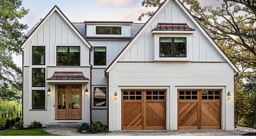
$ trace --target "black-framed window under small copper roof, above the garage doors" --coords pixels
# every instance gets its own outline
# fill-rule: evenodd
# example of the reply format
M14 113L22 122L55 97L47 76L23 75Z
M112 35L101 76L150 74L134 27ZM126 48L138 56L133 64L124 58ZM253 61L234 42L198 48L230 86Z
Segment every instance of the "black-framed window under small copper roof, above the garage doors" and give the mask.
M187 57L186 38L160 37L160 57Z

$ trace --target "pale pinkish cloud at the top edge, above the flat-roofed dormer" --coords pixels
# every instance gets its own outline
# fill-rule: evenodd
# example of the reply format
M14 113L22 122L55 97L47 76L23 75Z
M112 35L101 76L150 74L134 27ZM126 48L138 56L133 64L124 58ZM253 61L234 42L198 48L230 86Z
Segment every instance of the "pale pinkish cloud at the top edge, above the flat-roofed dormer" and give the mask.
M100 6L110 6L113 8L124 8L124 7L132 7L141 3L138 0L97 0L97 3Z

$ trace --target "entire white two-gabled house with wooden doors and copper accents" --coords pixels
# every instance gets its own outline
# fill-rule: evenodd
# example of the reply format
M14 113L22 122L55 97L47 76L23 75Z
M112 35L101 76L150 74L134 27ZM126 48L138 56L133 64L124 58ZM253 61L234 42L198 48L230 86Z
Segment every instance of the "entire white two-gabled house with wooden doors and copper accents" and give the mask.
M179 0L145 24L71 23L54 6L21 49L25 125L234 129L238 68Z

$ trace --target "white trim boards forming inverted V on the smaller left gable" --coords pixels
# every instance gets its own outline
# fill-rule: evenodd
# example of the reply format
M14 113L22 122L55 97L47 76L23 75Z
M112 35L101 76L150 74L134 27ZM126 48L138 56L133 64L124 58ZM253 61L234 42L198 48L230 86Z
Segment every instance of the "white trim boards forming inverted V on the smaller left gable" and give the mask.
M81 36L81 34L74 28L73 25L70 24L70 22L68 21L67 18L64 17L64 15L61 13L60 10L58 10L58 8L55 6L54 9L51 10L51 12L49 13L49 15L47 17L44 18L44 20L42 21L42 23L40 23L39 26L36 27L36 30L33 31L32 34L30 34L29 38L27 38L27 40L25 40L25 43L22 44L21 48L24 48L25 45L27 45L27 43L29 42L29 40L31 39L31 36L34 36L35 33L40 30L40 28L43 26L43 24L50 18L50 16L54 13L57 12L64 20L65 22L69 25L69 27L71 27L71 29L73 29L73 31L77 34L77 36L82 40L82 42L89 48L91 48L91 45Z

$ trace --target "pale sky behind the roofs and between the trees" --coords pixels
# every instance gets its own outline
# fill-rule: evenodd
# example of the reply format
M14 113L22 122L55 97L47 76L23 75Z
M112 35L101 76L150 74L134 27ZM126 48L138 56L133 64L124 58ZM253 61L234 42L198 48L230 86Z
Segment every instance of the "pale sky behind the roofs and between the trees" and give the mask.
M199 0L202 6L220 5L217 0ZM145 23L147 18L141 22L137 20L142 12L149 9L142 8L142 0L23 0L22 6L29 9L20 22L29 27L24 30L27 33L40 18L44 18L54 5L69 18L71 22L84 22L84 20L106 20L106 21L133 21L134 23ZM155 9L152 9L155 10ZM22 56L13 55L14 62L22 67Z

